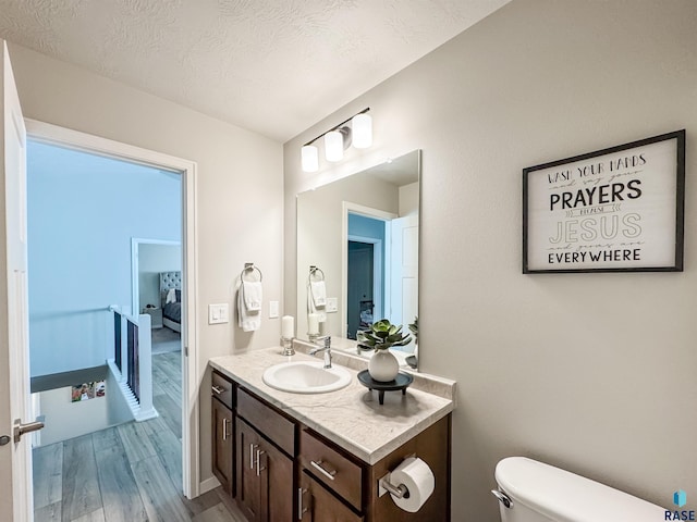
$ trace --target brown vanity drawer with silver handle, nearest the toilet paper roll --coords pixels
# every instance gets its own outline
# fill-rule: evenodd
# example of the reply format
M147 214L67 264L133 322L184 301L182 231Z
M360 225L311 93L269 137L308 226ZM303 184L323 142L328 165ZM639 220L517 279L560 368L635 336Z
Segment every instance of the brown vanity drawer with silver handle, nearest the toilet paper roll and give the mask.
M307 430L301 432L301 463L357 510L362 508L362 469Z

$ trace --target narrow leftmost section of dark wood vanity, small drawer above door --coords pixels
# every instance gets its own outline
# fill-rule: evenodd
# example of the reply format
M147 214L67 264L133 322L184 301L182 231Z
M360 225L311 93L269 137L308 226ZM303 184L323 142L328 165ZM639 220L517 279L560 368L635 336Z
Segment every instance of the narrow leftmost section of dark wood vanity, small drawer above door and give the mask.
M212 470L228 495L234 484L234 385L221 374L211 376Z

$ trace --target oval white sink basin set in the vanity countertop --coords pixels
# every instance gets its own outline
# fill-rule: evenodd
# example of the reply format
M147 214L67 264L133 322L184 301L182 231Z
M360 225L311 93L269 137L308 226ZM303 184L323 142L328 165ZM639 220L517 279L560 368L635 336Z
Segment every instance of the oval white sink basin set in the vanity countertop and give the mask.
M321 361L282 362L268 368L262 378L272 388L293 394L325 394L348 386L351 373L323 365Z

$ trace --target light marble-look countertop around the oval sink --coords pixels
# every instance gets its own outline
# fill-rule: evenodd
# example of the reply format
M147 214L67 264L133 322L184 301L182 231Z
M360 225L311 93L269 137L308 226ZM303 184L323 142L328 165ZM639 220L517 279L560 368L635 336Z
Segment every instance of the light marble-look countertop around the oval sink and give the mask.
M415 374L414 384L404 396L401 391L386 391L384 405L380 405L378 393L368 390L356 378L356 362L343 361L348 364L341 364L339 353L334 355L334 364L340 363L352 373L351 384L345 388L304 395L267 386L261 378L264 370L289 359L321 360L302 352L292 358L284 357L281 348L274 347L216 357L209 362L219 372L368 464L375 464L454 409L455 383L433 377L431 384L429 376L423 374Z

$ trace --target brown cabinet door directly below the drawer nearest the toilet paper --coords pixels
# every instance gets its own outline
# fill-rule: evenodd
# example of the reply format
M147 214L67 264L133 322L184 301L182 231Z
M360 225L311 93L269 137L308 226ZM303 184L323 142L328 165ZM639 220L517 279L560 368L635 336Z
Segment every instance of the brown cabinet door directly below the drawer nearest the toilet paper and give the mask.
M305 472L301 473L297 500L297 519L302 522L362 522L364 520Z

